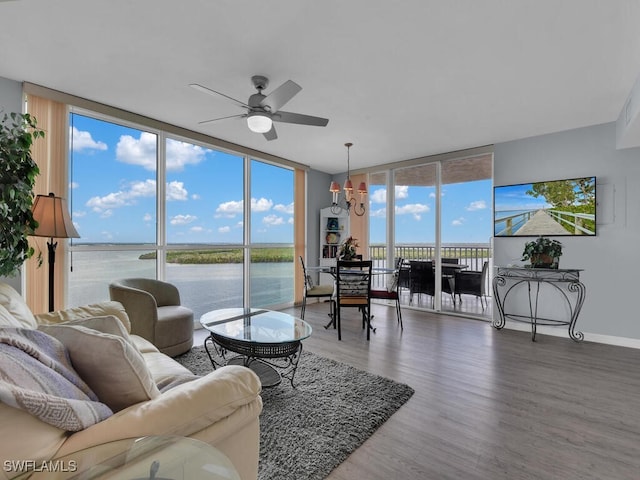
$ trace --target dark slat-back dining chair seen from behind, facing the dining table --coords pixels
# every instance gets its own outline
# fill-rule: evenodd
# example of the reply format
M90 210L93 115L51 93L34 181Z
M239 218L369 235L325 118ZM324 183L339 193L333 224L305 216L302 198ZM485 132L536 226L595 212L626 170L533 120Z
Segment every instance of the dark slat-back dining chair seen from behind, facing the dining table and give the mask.
M371 260L338 260L336 265L336 319L338 340L342 340L342 308L358 308L362 313L362 328L371 330Z

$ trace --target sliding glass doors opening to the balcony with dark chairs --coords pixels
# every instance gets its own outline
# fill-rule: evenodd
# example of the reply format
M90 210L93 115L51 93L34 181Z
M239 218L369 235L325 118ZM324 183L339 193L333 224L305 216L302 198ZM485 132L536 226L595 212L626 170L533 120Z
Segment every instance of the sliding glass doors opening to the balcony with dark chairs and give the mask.
M490 318L479 297L457 294L455 280L490 262L492 162L492 154L450 157L369 175L370 254L384 256L386 265L404 258L403 304ZM384 255L383 242L390 247ZM411 262L429 278L417 278L414 269L412 280ZM479 294L488 295L488 276L484 282Z

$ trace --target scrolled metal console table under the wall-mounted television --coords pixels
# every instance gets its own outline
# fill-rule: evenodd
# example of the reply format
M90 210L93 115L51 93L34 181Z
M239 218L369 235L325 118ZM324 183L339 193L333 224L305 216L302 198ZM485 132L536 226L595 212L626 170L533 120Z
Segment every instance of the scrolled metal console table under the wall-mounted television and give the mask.
M493 278L493 294L499 317L493 321L493 326L500 330L505 326L507 318L530 322L531 340L535 341L538 325L568 325L569 337L576 342L581 342L584 339L584 335L582 332L575 330L586 291L584 284L580 281L581 271L581 269L575 268L496 267L496 275ZM569 307L569 320L538 316L540 287L543 284L550 285L560 293ZM509 295L523 286L526 286L529 296L529 315L507 313L505 304Z

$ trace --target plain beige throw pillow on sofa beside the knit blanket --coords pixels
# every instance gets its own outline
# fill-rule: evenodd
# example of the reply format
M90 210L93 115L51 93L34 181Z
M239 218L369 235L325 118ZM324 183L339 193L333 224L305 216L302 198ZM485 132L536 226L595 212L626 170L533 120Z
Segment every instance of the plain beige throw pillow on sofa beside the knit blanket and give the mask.
M75 370L114 412L160 395L142 354L124 338L81 326L40 328L64 344Z

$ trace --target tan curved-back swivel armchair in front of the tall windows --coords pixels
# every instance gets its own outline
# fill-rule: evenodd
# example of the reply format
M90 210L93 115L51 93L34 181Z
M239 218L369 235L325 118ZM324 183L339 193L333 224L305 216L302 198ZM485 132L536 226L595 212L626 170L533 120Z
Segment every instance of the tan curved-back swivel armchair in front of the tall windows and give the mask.
M151 278L125 278L109 285L111 300L120 302L131 333L175 357L193 345L193 311L180 305L175 285Z

